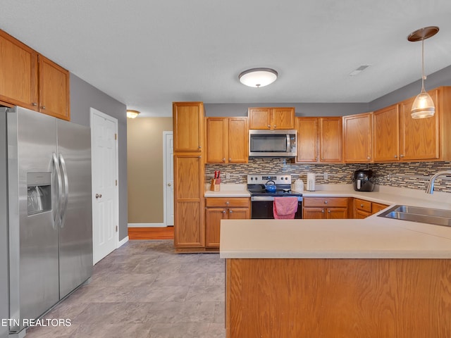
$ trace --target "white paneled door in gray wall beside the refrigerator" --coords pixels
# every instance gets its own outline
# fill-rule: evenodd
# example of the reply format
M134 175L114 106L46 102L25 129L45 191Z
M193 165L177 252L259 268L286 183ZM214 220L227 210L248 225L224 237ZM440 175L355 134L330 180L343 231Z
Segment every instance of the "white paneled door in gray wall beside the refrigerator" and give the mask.
M94 264L118 245L118 120L91 108Z

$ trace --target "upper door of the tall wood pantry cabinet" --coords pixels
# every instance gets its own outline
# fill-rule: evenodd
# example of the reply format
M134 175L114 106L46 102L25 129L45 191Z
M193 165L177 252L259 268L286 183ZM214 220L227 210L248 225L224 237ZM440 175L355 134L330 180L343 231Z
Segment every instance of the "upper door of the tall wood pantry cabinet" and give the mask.
M202 151L203 120L202 102L173 103L174 152Z

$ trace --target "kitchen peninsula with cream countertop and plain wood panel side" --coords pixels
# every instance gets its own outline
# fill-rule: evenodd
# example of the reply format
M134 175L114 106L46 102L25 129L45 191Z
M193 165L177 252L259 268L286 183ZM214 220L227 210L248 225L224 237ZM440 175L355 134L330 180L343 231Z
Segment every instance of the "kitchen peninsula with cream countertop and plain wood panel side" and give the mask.
M451 337L451 227L223 220L221 257L228 338Z

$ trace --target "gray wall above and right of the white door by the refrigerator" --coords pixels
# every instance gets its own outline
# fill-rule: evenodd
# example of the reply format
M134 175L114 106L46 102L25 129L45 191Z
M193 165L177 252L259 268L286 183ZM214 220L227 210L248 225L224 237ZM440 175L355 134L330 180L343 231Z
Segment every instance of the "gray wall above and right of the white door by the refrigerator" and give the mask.
M70 120L89 126L89 108L118 119L119 240L128 236L127 110L125 104L70 74Z

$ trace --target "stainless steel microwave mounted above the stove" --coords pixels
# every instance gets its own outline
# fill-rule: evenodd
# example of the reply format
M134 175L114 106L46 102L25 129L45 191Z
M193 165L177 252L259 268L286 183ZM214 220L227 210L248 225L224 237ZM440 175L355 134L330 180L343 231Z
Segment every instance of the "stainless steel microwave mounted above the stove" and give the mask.
M295 157L296 130L249 130L249 157Z

